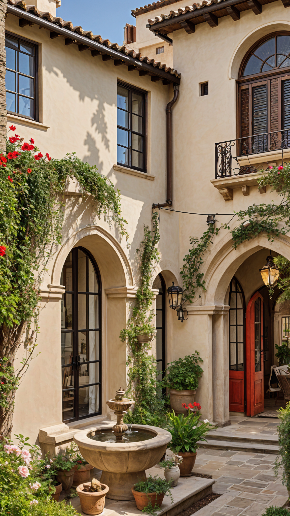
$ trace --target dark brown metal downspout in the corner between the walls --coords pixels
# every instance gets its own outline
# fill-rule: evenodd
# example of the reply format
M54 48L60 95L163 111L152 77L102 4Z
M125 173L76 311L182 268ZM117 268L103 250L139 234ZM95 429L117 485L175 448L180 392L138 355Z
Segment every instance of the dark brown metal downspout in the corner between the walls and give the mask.
M162 204L152 204L152 208L162 208L172 206L172 106L175 104L179 95L179 85L173 84L174 95L171 102L166 106L166 157L167 157L167 198Z

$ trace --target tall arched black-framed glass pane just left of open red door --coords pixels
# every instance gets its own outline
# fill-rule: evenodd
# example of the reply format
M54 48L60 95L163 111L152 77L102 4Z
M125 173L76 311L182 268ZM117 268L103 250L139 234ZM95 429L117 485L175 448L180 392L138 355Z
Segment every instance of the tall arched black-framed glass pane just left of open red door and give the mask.
M243 371L245 361L245 296L235 277L230 283L229 305L230 370Z

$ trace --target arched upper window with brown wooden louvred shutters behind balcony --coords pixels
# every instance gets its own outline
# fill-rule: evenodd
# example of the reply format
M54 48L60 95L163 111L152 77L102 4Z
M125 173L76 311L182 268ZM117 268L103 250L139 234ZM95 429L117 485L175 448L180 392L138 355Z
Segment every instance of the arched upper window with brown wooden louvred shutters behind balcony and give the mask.
M239 154L290 147L290 32L256 42L237 83Z

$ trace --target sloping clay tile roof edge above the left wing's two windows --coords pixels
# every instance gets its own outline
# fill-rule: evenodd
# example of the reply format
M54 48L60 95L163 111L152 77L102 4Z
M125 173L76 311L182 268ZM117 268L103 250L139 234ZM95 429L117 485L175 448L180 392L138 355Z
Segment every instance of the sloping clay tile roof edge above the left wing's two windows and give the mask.
M108 39L102 39L101 36L95 36L90 30L83 30L83 28L79 25L74 27L72 22L65 22L62 20L62 18L55 18L50 12L39 11L35 5L26 5L24 0L8 0L8 5L32 12L38 18L45 18L55 25L71 30L72 33L77 33L80 36L84 36L92 41L96 41L97 43L106 46L108 49L115 50L124 55L130 55L134 57L134 59L147 62L148 65L159 68L159 70L163 69L165 72L169 72L171 75L175 75L179 78L181 77L181 74L179 74L178 71L174 70L173 68L167 67L160 62L155 62L154 59L149 59L148 57L142 56L139 53L137 54L134 52L134 50L127 49L125 46L119 46L118 43L111 43Z

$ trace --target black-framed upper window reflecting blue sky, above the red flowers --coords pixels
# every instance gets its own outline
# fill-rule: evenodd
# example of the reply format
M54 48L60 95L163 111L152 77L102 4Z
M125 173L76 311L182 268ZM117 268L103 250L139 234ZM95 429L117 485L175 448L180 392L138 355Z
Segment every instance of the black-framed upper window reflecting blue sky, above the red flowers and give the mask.
M7 112L38 119L38 45L5 34Z

